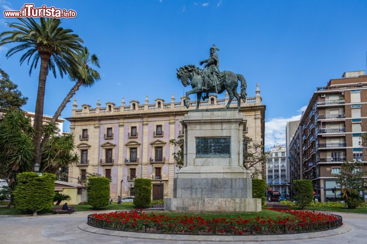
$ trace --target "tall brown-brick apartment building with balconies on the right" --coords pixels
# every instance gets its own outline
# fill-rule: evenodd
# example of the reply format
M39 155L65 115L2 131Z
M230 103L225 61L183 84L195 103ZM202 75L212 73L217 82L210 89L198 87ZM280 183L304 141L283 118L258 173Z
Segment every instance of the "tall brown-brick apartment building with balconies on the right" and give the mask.
M318 87L291 141L291 179L312 179L313 190L321 201L338 200L340 186L335 179L340 165L344 161L367 161L366 148L360 144L361 134L366 131L364 71L345 72L342 78Z

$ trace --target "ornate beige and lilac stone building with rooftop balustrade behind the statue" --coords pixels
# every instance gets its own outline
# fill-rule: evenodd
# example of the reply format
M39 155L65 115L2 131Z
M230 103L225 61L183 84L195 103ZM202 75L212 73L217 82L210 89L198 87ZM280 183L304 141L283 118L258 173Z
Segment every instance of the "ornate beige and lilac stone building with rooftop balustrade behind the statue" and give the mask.
M225 99L209 96L200 102L200 109L224 108ZM173 196L173 178L177 167L173 153L177 151L170 139L182 134L180 118L189 110L195 109L196 102L190 102L187 109L183 106L184 97L166 103L155 99L144 104L132 100L128 105L124 99L121 106L107 102L101 107L92 108L88 104L78 109L74 100L70 131L75 135L75 150L80 162L69 167L69 182L86 180L86 174L99 173L110 178L111 197L134 194L134 178L152 180L153 199ZM231 107L237 107L232 101ZM265 105L261 104L260 90L257 85L256 96L241 102L240 113L247 123L244 136L264 144ZM260 166L264 167L264 165Z

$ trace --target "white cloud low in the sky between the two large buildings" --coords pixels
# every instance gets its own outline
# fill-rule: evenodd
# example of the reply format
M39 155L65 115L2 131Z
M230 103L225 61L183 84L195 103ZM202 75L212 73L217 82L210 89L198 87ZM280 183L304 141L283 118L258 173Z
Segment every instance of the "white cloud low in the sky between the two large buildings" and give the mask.
M305 106L300 108L298 112L304 111ZM283 118L271 118L265 122L265 148L272 147L276 144L285 145L285 126L289 121L300 120L301 114Z

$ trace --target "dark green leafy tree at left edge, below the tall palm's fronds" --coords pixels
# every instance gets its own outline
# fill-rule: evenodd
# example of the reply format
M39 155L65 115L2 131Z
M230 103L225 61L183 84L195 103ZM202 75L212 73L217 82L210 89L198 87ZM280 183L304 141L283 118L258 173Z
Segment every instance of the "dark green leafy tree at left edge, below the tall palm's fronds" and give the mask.
M17 88L18 85L10 80L3 69L0 69L0 113L6 113L9 109L19 109L27 103L28 98L23 97Z

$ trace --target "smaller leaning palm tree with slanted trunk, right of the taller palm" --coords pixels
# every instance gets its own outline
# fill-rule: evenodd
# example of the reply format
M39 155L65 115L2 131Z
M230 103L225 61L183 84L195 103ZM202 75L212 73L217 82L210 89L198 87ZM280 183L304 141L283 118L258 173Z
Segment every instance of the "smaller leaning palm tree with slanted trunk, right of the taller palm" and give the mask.
M99 73L90 67L90 65L94 65L99 68L99 59L95 54L90 55L87 47L84 47L83 50L78 51L76 56L76 63L78 67L76 70L73 70L70 75L72 80L76 80L76 83L70 89L70 92L66 95L63 102L56 110L53 116L54 123L56 123L56 120L61 115L61 112L66 107L66 104L75 95L76 91L81 87L81 85L92 86L94 82L100 80Z

